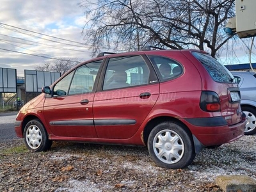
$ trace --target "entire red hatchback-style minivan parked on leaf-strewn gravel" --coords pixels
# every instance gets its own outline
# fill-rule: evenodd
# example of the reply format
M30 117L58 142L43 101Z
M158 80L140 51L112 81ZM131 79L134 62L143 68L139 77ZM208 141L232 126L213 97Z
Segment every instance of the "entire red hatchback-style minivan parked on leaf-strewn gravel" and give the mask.
M145 145L158 166L176 169L244 135L237 83L202 51L99 54L42 92L15 122L36 152L60 140Z

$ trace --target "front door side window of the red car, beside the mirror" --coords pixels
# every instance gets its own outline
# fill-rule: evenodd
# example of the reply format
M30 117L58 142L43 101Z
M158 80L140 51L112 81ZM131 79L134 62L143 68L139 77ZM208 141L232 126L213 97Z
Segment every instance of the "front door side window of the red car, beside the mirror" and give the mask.
M54 86L54 95L74 95L92 92L102 60L87 63L72 71Z

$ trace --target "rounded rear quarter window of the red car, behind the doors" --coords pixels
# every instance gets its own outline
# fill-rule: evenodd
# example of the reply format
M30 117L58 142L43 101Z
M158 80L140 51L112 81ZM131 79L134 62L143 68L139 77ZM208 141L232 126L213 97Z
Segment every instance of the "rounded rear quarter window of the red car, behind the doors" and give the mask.
M177 61L154 55L149 55L148 58L156 68L161 81L175 79L183 73L183 67Z

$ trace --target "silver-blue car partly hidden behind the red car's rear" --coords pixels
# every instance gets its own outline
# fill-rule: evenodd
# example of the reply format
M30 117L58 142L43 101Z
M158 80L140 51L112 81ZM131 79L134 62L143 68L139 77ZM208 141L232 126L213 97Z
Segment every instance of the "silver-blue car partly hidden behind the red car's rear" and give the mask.
M231 72L241 93L241 108L246 115L244 134L256 133L256 74L254 72Z

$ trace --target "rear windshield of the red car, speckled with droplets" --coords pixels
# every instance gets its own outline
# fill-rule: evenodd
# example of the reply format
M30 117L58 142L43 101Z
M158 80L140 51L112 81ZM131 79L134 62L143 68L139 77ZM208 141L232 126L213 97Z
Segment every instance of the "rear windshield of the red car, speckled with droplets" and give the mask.
M192 54L202 63L214 81L220 83L235 83L234 77L230 71L217 60L202 52L192 52Z

